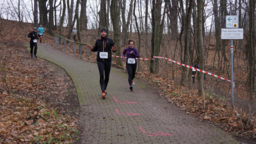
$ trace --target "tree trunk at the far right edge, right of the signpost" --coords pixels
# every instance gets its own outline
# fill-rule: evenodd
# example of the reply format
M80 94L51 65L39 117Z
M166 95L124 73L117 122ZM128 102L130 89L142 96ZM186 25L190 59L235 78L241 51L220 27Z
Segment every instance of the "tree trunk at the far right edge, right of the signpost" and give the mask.
M254 13L255 13L255 1L249 1L249 74L248 74L248 93L250 95L250 101L253 101L255 90L255 25L254 25Z

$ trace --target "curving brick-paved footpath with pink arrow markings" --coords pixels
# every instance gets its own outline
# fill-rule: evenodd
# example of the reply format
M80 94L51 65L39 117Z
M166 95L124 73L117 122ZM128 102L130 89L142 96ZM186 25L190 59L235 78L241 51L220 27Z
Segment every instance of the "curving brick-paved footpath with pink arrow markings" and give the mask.
M103 100L96 63L47 44L38 45L38 55L63 67L74 81L83 127L77 143L238 143L159 97L152 86L135 80L131 92L122 70L111 68L108 96Z

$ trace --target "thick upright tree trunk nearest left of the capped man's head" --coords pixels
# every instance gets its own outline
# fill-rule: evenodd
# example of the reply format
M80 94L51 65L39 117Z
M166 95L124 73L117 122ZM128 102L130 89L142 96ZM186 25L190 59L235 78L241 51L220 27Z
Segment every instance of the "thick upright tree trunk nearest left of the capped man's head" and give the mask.
M80 22L81 22L81 31L87 29L87 14L86 14L86 3L87 0L81 0L81 14L80 14Z

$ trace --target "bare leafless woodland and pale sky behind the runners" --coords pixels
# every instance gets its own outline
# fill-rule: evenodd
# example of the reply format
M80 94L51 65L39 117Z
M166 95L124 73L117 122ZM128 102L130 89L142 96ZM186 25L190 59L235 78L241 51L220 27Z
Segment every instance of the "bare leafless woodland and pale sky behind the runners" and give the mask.
M226 15L238 15L244 39L234 40L236 96L255 98L255 0L4 0L1 19L42 24L49 35L71 39L77 28L79 42L93 44L99 29L108 29L120 56L129 39L141 58L164 56L230 79L230 40L221 40ZM0 29L1 30L1 29ZM116 58L116 65L124 63ZM140 61L140 72L150 72L191 87L191 70L165 60ZM198 94L205 79L230 90L230 83L197 73ZM225 89L225 90L224 90Z

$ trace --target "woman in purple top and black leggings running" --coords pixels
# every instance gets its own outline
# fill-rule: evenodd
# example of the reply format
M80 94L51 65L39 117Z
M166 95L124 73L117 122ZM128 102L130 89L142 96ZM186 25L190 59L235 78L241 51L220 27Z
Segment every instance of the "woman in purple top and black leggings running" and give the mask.
M136 74L136 68L137 68L137 60L136 58L140 58L140 54L137 51L137 49L134 47L134 41L133 40L129 40L128 42L129 47L127 47L126 49L124 49L123 53L122 53L122 58L124 60L124 56L126 54L127 58L126 58L126 70L128 73L128 82L129 82L129 89L132 91L132 85L134 85L133 79L135 77Z

